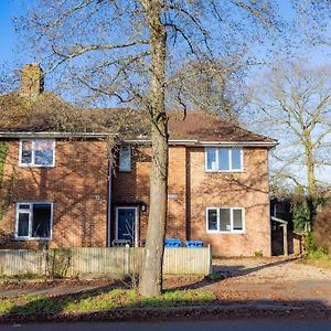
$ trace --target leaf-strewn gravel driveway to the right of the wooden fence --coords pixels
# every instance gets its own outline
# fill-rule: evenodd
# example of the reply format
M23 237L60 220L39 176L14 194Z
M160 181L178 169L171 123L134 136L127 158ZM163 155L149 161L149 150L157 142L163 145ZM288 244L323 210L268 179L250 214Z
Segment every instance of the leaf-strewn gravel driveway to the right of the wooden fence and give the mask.
M331 307L331 269L297 258L226 258L213 260L222 278L202 286L229 300L320 301Z

